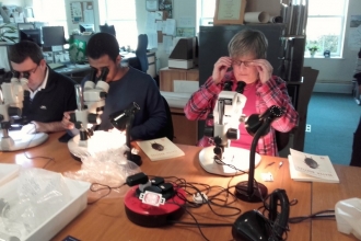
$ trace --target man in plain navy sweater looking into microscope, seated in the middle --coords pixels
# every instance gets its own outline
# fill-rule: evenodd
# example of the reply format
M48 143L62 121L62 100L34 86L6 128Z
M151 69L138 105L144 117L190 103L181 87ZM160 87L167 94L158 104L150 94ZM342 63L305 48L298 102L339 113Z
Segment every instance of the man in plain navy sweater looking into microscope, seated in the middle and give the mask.
M172 119L167 119L165 104L155 80L132 67L120 65L121 56L117 39L107 33L94 34L88 42L86 55L90 66L96 69L97 77L104 68L108 69L105 81L109 84L109 90L105 99L100 129L113 128L109 115L124 111L136 102L140 111L135 115L130 131L131 139L145 140L164 136L166 123ZM74 125L69 118L70 116L65 114L63 126L73 129Z

